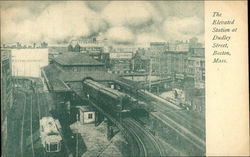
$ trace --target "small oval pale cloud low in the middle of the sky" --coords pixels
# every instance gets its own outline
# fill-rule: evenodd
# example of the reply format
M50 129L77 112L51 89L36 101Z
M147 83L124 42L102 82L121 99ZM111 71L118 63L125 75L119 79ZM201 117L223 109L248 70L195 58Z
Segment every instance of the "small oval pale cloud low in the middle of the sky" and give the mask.
M106 34L108 40L115 43L131 43L134 41L133 33L126 27L113 27Z

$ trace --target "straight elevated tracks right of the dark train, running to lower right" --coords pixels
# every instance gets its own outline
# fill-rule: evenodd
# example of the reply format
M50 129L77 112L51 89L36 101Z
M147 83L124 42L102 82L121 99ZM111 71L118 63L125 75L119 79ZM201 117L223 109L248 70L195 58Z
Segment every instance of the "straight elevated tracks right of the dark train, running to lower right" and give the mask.
M152 113L153 117L161 122L161 124L171 128L172 131L175 132L176 138L180 138L177 139L179 142L185 142L187 145L189 143L194 146L194 148L191 149L185 148L184 151L188 151L189 153L192 153L192 151L199 151L201 153L205 151L205 126L204 121L202 121L202 116L183 113L183 110L173 102L162 101L161 98L158 99L153 94L140 89L134 90L134 87L129 83L122 81L118 81L117 83L124 86L123 90L128 95L132 94L138 100L145 102L146 106L154 106L157 112L156 114ZM171 135L168 138L171 138ZM175 140L172 141L173 145L176 145ZM176 146L178 147L178 145L179 144Z

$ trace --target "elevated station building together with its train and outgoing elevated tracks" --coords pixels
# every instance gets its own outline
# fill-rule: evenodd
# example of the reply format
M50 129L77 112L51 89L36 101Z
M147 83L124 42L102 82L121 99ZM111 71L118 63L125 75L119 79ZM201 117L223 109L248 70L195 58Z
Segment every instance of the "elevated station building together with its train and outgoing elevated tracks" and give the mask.
M74 61L73 63L74 58L77 58L78 62ZM181 112L182 109L178 105L167 102L146 91L147 84L145 81L138 83L110 74L102 63L85 54L69 54L66 57L60 58L59 56L55 58L52 64L42 69L42 76L48 90L57 101L57 107L70 108L79 105L91 105L96 111L96 123L100 123L100 120L103 120L101 117L106 117L111 122L109 123L110 126L114 125L123 132L128 141L136 145L134 147L141 147L145 143L146 145L155 143L153 142L153 134L156 134L158 137L166 137L166 135L162 135L162 130L160 129L164 127L166 130L174 132L175 136L167 137L172 138L169 141L174 148L181 151L186 150L184 147L178 148L176 141L179 141L185 143L185 145L190 144L192 146L191 150L189 149L184 154L188 155L190 152L195 152L197 155L204 154L203 146L205 139L202 139L204 134L202 131L204 129L195 129L192 123L196 123L196 121L187 113ZM152 81L151 83L152 85L155 83L162 86L169 82L171 82L171 79L166 78L155 82ZM145 136L141 137L148 139L145 143L141 143L141 138L137 136L135 131L139 129L138 127L142 127L140 126L141 124L137 124L134 120L132 120L133 122L126 120L127 118L131 119L130 117L122 116L125 112L134 109L144 110L148 113L149 128L151 127L153 134L150 131L145 132ZM164 118L159 116L159 114L163 114ZM182 119L190 119L190 121L183 124L181 123ZM157 123L158 121L159 123ZM135 128L131 130L131 128L128 128L129 126ZM108 130L111 131L112 129ZM140 134L139 132L137 133ZM112 137L111 133L109 134ZM160 152L160 156L164 156L160 146L158 144L154 145L156 151L154 153L158 154ZM135 154L140 156L140 151L140 148L138 148L132 153L137 152ZM149 152L148 154L147 152L144 153L146 155L150 154Z

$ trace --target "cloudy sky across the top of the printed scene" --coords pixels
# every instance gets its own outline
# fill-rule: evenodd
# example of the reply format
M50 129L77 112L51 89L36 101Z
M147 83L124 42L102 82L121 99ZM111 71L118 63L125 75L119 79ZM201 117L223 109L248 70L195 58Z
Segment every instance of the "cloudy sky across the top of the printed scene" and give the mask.
M92 36L119 44L192 37L204 42L204 2L1 2L2 43L60 43Z

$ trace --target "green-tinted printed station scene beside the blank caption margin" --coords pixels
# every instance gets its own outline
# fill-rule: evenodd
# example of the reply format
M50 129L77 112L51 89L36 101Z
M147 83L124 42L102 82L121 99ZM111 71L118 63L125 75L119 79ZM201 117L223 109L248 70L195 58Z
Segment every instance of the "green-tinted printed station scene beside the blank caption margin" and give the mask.
M205 156L203 1L1 1L2 157Z

